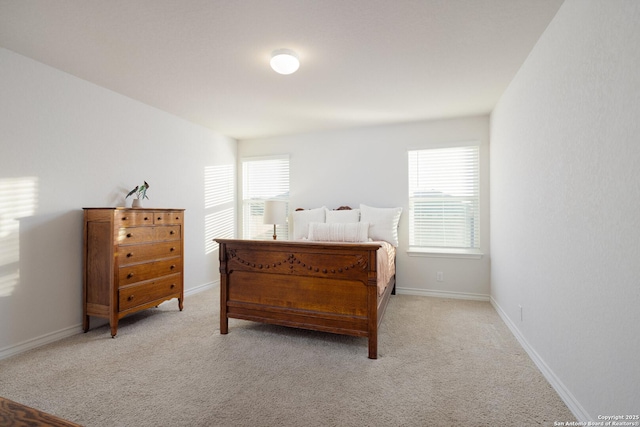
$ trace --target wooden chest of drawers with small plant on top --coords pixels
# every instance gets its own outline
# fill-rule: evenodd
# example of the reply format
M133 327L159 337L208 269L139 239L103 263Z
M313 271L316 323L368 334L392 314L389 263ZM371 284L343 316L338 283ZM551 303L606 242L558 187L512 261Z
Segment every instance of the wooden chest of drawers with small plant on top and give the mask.
M91 316L118 320L163 301L182 311L184 209L84 208L83 329Z

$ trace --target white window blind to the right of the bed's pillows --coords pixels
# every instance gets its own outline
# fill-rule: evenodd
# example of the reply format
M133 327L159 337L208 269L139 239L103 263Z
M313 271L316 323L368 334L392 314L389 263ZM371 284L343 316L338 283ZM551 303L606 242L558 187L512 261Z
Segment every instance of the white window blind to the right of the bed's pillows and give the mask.
M409 246L480 248L478 145L409 151Z

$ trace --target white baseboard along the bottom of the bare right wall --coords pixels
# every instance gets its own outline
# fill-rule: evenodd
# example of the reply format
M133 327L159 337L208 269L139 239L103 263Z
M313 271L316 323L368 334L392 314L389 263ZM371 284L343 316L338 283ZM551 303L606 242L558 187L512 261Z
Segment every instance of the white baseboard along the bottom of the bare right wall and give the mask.
M504 323L507 325L513 336L516 337L524 351L527 352L533 363L538 367L542 375L549 381L551 387L558 393L562 401L567 405L571 413L577 418L579 422L587 423L589 421L593 421L593 418L589 416L587 411L582 407L580 402L575 398L575 396L569 391L569 389L562 383L560 378L549 368L549 366L545 363L545 361L540 357L540 355L529 345L525 337L520 333L520 330L516 327L515 323L507 316L507 313L498 305L496 300L493 298L490 299L491 305L498 312L498 315L502 318ZM565 421L565 420L558 420Z

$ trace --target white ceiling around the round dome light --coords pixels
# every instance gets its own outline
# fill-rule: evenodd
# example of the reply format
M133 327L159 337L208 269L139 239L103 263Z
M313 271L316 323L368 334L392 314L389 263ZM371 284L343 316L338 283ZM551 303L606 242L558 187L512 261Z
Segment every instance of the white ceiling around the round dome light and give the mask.
M0 0L0 46L247 139L489 113L561 4Z

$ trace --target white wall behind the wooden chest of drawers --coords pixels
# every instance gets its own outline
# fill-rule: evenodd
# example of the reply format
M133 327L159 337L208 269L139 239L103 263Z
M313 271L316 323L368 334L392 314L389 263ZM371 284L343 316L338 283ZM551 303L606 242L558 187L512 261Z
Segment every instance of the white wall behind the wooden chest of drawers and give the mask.
M186 209L186 290L217 280L205 168L233 167L234 140L6 49L0 123L0 357L80 331L82 207L142 180L146 206Z

